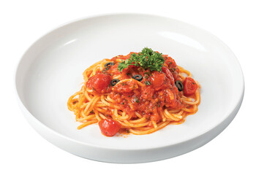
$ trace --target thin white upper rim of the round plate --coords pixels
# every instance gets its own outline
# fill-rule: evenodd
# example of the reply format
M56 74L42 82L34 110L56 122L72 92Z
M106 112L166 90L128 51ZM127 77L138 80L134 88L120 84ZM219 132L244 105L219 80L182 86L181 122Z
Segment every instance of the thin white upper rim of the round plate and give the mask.
M126 15L126 16L136 16L136 15L140 15L140 16L146 16L148 18L150 17L153 17L153 18L165 18L167 20L173 20L175 22L178 22L178 23L183 23L184 25L187 25L187 26L192 26L193 28L197 28L198 30L200 31L203 31L205 32L206 34L209 34L211 35L211 37L214 37L215 39L217 39L218 42L222 43L223 46L225 46L225 50L228 51L228 53L230 55L232 55L233 57L233 61L236 61L236 64L238 66L238 69L239 69L239 74L241 75L241 87L239 88L239 96L238 98L236 98L236 102L234 103L234 106L232 106L230 108L229 111L226 112L225 114L225 117L219 121L219 123L217 123L217 125L213 125L211 128L208 128L206 131L203 131L203 132L200 132L197 134L197 136L190 136L189 138L187 139L181 139L179 141L176 141L175 143L173 144L165 144L165 145L162 145L162 146L155 146L155 147L142 147L142 148L136 148L136 147L132 147L132 148L121 148L121 147L108 147L108 146L104 146L104 145L97 145L97 144L91 144L91 143L86 143L86 142L83 142L83 141L78 141L76 139L72 139L71 137L69 136L64 136L63 134L53 130L52 128L48 127L48 125L45 125L44 123L41 123L37 117L34 117L33 114L31 114L31 112L29 112L29 109L26 108L26 106L23 104L23 101L21 101L21 98L20 98L20 95L18 93L18 83L17 83L17 78L18 78L18 69L20 67L20 63L23 61L23 58L24 56L26 55L27 52L29 52L29 50L31 50L31 47L34 46L34 44L37 44L37 42L40 42L45 36L48 36L49 34L53 33L54 31L57 31L59 30L60 28L63 28L65 26L68 26L70 24L74 24L74 23L78 23L78 22L81 22L83 20L88 20L88 19L93 19L93 18L103 18L103 17L106 17L106 16L118 16L118 15ZM118 149L118 150L147 150L147 149L159 149L159 148L165 148L165 147L170 147L170 146L175 146L175 145L178 145L178 144L182 144L184 142L187 142L187 141L191 141L192 139L196 139L200 136L202 136L203 134L205 133L208 133L209 131L213 130L214 128L217 128L217 126L221 125L228 117L230 117L230 114L232 114L233 112L236 111L236 109L240 108L242 102L243 102L243 98L244 98L244 74L243 74L243 71L241 69L241 64L239 63L238 61L238 58L236 57L236 55L233 53L232 50L230 50L230 47L227 46L227 44L225 44L224 42L222 42L221 39L219 39L217 36L215 36L214 34L211 34L211 32L209 31L206 31L205 29L203 28L200 28L200 27L197 27L197 26L194 26L190 23L187 23L187 22L184 22L184 21L181 21L181 20L176 20L176 19L173 19L173 18L169 18L167 16L163 16L163 15L154 15L154 14L149 14L149 13L134 13L134 12L118 12L118 13L102 13L102 14L97 14L97 15L88 15L86 17L82 17L82 18L77 18L77 19L74 19L74 20L69 20L68 22L66 23L62 23L61 25L57 26L57 27L54 27L53 29L51 29L50 31L46 32L45 34L42 34L38 39L36 39L34 42L32 42L32 44L28 47L28 49L23 52L23 55L20 57L19 61L17 62L16 66L15 66L15 76L14 76L14 82L15 82L15 96L16 98L18 99L18 104L20 106L20 109L22 109L24 112L26 112L27 114L29 114L29 117L31 120L34 120L37 124L41 125L42 127L48 129L49 131L55 133L57 136L60 136L62 139L67 139L69 141L72 141L72 142L75 142L75 143L78 143L78 144L82 144L84 146L87 146L87 147L97 147L99 149ZM23 114L25 115L25 114ZM26 116L24 116L26 117ZM236 114L235 116L236 117ZM34 127L33 127L34 128Z

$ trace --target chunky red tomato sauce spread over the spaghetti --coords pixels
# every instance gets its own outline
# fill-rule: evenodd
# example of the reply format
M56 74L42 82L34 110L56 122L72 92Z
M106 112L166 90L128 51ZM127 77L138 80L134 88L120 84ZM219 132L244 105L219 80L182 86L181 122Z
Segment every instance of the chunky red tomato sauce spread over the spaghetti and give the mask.
M129 55L119 55L119 57L112 58L126 60ZM135 112L146 118L150 118L157 123L160 121L159 109L168 107L171 109L181 109L184 104L181 101L181 92L178 91L175 85L176 80L181 80L178 76L179 69L176 62L170 56L163 55L165 64L162 71L149 71L141 67L128 66L123 71L118 71L118 63L110 66L108 70L98 71L97 74L105 74L113 79L114 76L121 75L122 79L132 79L136 74L143 76L141 83L145 86L141 87L137 83L130 81L118 83L115 86L101 85L97 91L110 93L110 98L116 101L116 105L129 116L136 117ZM94 76L97 76L94 75ZM101 75L102 76L102 75ZM91 77L92 78L92 77ZM91 79L90 78L90 79ZM89 79L89 81L90 81ZM95 78L96 79L96 78ZM87 87L93 87L94 81L88 82ZM105 78L105 82L109 82L109 78ZM101 89L104 87L104 89ZM137 117L136 117L137 118Z

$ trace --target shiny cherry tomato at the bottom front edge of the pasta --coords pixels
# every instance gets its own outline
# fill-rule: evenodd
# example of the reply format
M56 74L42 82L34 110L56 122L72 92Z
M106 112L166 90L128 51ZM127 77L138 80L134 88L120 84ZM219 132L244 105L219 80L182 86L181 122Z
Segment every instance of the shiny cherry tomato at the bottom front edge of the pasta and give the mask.
M105 136L114 136L121 128L121 123L112 119L104 119L99 121L99 128Z

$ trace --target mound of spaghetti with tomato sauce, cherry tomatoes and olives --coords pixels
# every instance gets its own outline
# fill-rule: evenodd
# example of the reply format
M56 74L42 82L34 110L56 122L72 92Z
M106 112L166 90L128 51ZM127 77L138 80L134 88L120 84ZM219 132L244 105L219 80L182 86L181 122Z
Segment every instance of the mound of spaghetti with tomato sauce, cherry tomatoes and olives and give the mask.
M169 124L184 123L187 115L197 112L200 85L189 71L162 54L160 71L141 66L141 61L135 65L134 60L133 65L120 71L119 64L128 63L136 55L143 55L143 52L104 59L83 72L83 87L67 102L75 120L81 123L78 129L99 123L106 136L118 131L142 135ZM112 122L105 123L107 131L101 127L102 120Z

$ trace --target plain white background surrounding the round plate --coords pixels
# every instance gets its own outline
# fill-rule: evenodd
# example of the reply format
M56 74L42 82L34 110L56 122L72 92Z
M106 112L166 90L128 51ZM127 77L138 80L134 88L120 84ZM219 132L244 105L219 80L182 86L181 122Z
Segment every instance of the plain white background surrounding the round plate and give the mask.
M154 163L113 164L71 155L42 139L15 99L14 71L23 52L52 28L88 15L142 12L191 23L235 53L245 96L233 122L203 147ZM0 174L255 174L255 1L0 1ZM230 87L232 88L232 87Z

